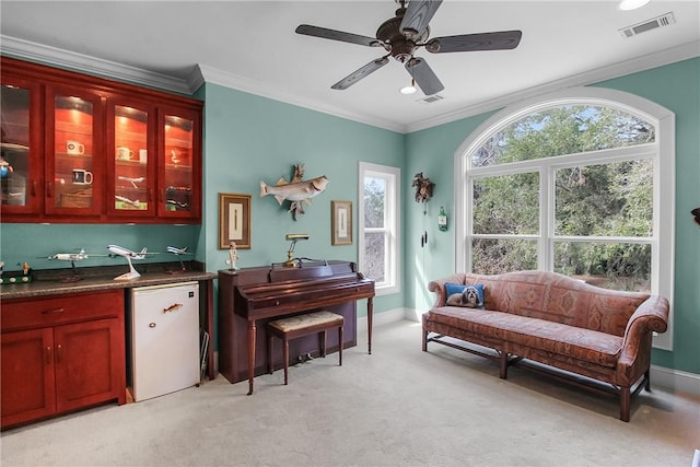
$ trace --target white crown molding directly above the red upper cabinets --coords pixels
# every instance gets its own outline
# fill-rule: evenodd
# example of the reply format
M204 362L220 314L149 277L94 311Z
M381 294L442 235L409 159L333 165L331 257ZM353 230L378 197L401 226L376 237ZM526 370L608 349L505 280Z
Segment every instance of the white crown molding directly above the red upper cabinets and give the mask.
M185 80L178 78L5 35L0 35L0 51L2 55L14 58L178 94L191 95L197 91L197 89L190 89Z

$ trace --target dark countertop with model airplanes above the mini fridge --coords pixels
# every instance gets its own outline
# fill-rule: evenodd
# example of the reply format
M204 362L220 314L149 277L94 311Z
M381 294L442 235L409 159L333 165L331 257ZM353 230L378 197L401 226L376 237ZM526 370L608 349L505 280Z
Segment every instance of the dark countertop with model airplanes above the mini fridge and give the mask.
M137 269L141 273L140 278L132 280L114 280L115 277L126 272L127 267L79 268L78 276L81 279L74 282L61 281L61 278L74 276L71 269L34 271L32 282L0 285L0 299L26 299L63 293L131 289L137 287L212 280L218 277L213 272L197 270L198 265L194 265L194 267L188 265L186 271L180 271L179 262L150 264L144 268L137 266Z

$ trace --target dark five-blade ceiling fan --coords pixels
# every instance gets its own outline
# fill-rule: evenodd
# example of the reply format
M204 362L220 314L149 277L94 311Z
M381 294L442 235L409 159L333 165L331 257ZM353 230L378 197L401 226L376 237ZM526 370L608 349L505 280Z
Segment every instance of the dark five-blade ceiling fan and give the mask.
M394 57L399 62L405 63L411 80L420 86L425 95L436 94L444 90L445 86L428 66L424 58L413 56L413 52L419 47L425 47L425 50L432 54L505 50L517 47L523 35L521 31L501 31L435 37L428 40L430 35L428 23L438 11L442 0L396 0L396 2L400 5L396 10L396 16L382 23L376 31L376 37L361 36L308 24L301 24L296 27L296 34L368 47L382 47L388 52L348 74L330 87L334 90L347 90L368 74L388 63L388 57ZM407 3L408 7L406 7Z

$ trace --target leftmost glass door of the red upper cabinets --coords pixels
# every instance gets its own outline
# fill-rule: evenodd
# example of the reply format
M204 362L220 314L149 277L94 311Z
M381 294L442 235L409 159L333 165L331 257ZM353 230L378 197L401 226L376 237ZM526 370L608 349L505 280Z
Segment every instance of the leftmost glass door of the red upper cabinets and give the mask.
M0 194L2 213L38 213L40 201L39 89L2 77Z

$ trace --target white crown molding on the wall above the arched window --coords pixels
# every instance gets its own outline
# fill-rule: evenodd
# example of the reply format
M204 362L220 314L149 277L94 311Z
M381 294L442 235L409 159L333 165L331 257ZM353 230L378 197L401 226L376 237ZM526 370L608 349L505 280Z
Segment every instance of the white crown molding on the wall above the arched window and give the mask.
M633 58L631 60L621 61L619 63L614 63L607 67L596 68L594 70L579 73L573 77L563 78L557 81L550 81L548 83L506 94L498 98L483 101L455 112L424 119L422 121L408 124L406 125L405 132L411 133L413 131L424 130L428 128L436 127L439 125L450 124L463 118L474 117L475 115L497 110L499 108L503 108L511 104L514 104L518 101L536 97L538 95L547 94L553 91L574 86L586 86L599 83L602 81L611 80L614 78L623 77L626 74L651 70L652 68L663 67L665 65L675 63L677 61L682 61L699 56L700 42L696 40L678 47L673 47L654 54Z

